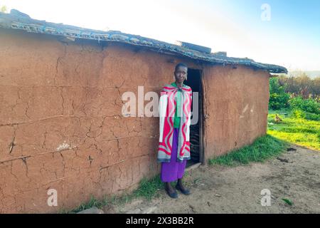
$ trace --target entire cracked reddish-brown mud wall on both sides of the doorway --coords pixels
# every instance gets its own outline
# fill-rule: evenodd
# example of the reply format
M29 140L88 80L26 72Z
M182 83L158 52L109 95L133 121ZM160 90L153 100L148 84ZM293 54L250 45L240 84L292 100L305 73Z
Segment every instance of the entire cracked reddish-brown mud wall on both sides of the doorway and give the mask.
M180 61L203 71L206 159L265 134L269 73L0 29L0 213L72 209L159 173L159 119L124 118L122 93L159 93Z

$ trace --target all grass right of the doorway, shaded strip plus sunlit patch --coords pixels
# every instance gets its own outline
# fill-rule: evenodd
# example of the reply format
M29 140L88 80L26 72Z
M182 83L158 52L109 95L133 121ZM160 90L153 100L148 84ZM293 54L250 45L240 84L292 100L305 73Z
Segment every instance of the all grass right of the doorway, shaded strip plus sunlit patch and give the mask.
M274 121L276 114L282 118L279 123ZM294 118L291 110L270 110L267 135L258 138L252 145L210 159L209 165L235 166L263 162L279 155L289 145L288 142L320 150L320 121Z

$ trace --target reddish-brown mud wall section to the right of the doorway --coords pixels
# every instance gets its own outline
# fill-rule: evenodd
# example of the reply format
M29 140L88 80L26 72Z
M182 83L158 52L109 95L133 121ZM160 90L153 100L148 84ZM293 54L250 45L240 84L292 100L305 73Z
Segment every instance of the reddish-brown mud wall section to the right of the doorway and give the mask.
M245 66L210 66L205 81L206 159L251 144L267 131L269 76Z

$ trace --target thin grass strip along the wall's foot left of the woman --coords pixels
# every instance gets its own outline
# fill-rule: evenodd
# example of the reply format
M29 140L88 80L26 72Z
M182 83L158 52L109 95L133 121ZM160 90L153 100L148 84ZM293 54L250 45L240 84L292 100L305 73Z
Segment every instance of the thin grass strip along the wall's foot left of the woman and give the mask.
M160 176L156 175L156 177L153 177L151 179L142 179L137 190L134 190L134 192L132 193L124 193L120 196L112 197L105 196L102 200L96 199L95 197L91 196L87 202L80 204L75 209L71 209L69 211L66 209L60 209L59 213L72 214L81 212L82 210L89 209L91 207L102 209L102 207L106 206L107 204L124 204L127 202L131 202L132 199L136 199L138 197L150 200L153 197L157 197L159 195L159 190L163 188L164 185L160 180Z

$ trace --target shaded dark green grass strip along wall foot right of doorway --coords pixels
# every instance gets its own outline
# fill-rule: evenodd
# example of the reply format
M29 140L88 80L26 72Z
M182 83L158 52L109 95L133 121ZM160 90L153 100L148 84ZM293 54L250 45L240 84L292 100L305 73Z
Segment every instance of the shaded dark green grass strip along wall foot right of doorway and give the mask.
M209 160L209 165L236 166L245 165L249 162L264 162L270 157L279 155L288 146L287 142L278 140L271 135L257 138L252 145L247 145L234 150L226 155Z

